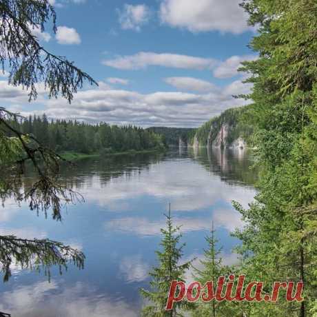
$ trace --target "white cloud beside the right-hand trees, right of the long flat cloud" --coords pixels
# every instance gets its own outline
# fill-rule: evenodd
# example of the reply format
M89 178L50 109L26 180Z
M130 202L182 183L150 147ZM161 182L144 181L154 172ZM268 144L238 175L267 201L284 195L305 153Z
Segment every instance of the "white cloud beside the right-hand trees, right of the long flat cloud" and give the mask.
M214 77L229 78L238 74L238 68L243 61L254 61L257 59L255 55L232 56L214 69Z

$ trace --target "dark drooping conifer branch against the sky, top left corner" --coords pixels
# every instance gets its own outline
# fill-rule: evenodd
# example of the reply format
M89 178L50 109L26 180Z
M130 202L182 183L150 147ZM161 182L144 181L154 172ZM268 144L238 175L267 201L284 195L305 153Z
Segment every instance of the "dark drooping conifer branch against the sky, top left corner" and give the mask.
M91 76L77 68L73 62L45 50L32 34L32 28L53 18L55 12L48 0L3 0L0 6L0 64L10 67L9 83L29 89L29 100L37 98L37 83L43 82L49 96L59 93L69 102L78 88L87 80L98 85Z

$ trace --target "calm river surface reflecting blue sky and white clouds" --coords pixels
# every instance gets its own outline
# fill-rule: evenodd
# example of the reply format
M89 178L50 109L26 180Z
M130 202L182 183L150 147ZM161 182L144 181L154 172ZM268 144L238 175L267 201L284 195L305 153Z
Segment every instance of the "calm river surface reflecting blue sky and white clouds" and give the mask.
M86 260L81 271L70 266L60 276L52 269L50 283L43 274L14 268L9 282L0 284L0 311L12 317L139 316L139 288L147 287L147 272L156 264L168 203L182 225L185 260L202 257L214 221L223 259L234 263L238 241L229 232L243 223L231 201L252 201L252 163L242 150L205 149L88 159L63 171L85 203L65 209L62 223L7 202L0 234L62 241L82 249Z

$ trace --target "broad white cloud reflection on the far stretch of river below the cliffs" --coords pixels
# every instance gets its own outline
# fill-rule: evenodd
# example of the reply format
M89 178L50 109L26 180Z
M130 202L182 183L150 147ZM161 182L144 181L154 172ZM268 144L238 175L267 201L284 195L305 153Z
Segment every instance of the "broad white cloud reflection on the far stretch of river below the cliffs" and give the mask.
M116 212L134 210L131 199L135 201L138 197L170 202L177 211L202 209L216 201L226 201L231 205L232 200L239 200L247 205L254 193L243 190L247 184L238 178L238 172L249 172L251 162L232 161L232 157L225 156L223 165L219 165L217 158L216 155L198 156L195 164L188 156L181 156L181 159L165 156L161 163L152 162L143 166L141 171L133 165L125 165L123 171L110 165L108 172L101 169L101 162L96 162L88 165L90 173L77 174L76 190L83 193L86 201ZM99 164L99 172L96 164Z

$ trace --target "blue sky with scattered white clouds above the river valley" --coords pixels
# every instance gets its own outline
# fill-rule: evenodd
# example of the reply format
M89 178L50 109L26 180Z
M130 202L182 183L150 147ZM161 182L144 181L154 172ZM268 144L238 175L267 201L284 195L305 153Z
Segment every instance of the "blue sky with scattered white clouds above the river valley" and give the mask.
M198 127L247 101L232 95L252 88L237 72L256 59L247 47L255 29L240 0L50 0L57 32L32 28L45 49L67 57L99 86L85 84L71 104L37 101L8 85L0 73L7 109L88 123Z

